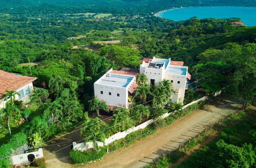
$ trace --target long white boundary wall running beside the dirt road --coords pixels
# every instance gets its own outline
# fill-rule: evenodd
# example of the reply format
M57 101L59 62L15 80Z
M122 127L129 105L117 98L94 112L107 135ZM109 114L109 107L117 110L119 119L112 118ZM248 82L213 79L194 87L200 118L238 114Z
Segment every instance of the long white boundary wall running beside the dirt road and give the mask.
M221 94L221 92L222 91L217 91L217 92L213 93L212 95L214 97L216 97L216 96L219 96ZM188 107L189 105L198 103L199 101L205 101L207 98L208 98L208 96L204 96L204 97L202 97L202 98L200 98L200 99L198 99L196 101L193 101L193 102L183 106L181 109L184 109L184 108ZM168 117L171 114L172 113L165 113L162 116L160 116L160 118L164 119L164 118ZM142 123L142 124L140 124L140 125L138 125L136 127L132 127L130 129L127 129L126 131L118 132L118 133L110 136L109 138L105 139L104 143L97 142L97 144L98 144L99 147L103 147L104 145L109 145L110 143L112 143L112 142L114 142L114 141L116 141L118 139L124 138L126 135L128 135L128 134L130 134L130 133L132 133L134 131L137 131L139 129L145 128L146 126L150 125L152 122L153 122L152 119L148 120L148 121L146 121L146 122L144 122L144 123ZM73 142L73 149L75 149L75 150L86 151L86 150L88 150L90 148L93 148L93 143L92 142L87 142L86 144L84 144L84 143L77 144L76 142Z

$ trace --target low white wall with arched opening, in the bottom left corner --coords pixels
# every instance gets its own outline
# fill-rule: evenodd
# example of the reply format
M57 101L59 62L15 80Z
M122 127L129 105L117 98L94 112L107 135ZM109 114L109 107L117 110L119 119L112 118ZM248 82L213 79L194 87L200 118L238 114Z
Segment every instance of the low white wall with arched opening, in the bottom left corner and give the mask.
M30 153L25 153L25 154L20 154L20 155L15 155L11 156L12 163L15 164L22 164L22 163L28 163L28 155L33 154L35 155L35 159L44 157L44 154L42 153L42 149L39 148L38 151L35 152L30 152Z

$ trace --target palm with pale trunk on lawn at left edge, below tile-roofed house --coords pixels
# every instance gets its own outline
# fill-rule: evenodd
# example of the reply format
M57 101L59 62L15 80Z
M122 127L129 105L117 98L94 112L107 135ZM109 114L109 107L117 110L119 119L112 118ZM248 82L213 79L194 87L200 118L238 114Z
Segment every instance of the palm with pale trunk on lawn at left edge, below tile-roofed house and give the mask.
M22 118L20 113L21 113L20 109L14 106L12 102L6 103L6 107L0 110L0 116L2 120L1 123L4 123L7 121L7 128L9 129L10 136L12 136L10 123L20 121L20 119Z

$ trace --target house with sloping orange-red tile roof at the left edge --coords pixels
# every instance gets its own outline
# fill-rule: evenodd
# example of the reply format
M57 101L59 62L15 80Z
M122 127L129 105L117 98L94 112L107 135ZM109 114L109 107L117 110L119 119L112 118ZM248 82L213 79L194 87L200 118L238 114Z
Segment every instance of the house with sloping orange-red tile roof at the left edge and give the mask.
M29 94L33 91L33 81L36 79L36 77L21 76L0 70L0 108L4 108L10 99L3 98L6 90L18 92L19 95L15 95L16 100L29 102Z

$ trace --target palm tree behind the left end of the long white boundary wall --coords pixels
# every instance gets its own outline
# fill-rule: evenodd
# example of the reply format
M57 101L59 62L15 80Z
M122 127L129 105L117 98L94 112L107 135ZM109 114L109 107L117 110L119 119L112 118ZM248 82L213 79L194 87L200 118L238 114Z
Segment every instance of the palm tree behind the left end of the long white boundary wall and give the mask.
M99 150L97 142L104 142L105 134L102 132L102 127L105 123L99 118L91 119L84 124L81 129L81 135L85 138L85 142L93 142L93 147Z

